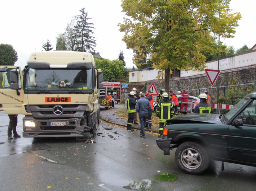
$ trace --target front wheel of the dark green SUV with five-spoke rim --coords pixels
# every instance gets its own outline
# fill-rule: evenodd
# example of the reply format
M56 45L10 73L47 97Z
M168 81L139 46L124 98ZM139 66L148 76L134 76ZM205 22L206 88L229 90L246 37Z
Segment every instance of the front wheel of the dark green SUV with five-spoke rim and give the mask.
M209 155L202 145L187 141L176 149L175 162L181 171L198 175L208 168Z

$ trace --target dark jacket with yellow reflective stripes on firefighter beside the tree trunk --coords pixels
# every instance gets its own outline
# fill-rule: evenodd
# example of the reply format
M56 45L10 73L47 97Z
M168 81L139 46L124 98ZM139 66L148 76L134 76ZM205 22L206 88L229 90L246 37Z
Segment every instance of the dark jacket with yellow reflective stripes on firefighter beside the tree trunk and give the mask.
M163 98L159 102L156 113L159 115L159 122L165 123L166 120L172 118L174 114L172 101L169 98Z

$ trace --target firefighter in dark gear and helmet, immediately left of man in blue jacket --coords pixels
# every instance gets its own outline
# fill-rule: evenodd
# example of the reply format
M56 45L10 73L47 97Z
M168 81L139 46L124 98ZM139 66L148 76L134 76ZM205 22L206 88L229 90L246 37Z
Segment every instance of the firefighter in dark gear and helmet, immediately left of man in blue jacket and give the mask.
M133 131L132 122L134 120L134 113L136 112L136 101L134 99L134 92L130 92L127 98L127 112L128 112L128 120L127 120L127 130Z

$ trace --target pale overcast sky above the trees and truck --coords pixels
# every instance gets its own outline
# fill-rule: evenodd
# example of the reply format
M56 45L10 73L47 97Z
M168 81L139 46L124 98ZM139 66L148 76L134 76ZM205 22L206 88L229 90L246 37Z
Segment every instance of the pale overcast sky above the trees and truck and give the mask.
M118 59L123 51L126 66L132 64L132 50L127 50L122 41L123 33L119 32L118 23L123 21L121 0L9 0L0 6L0 43L12 45L18 53L16 66L26 65L32 52L41 51L42 45L50 40L53 50L56 50L56 36L63 33L72 17L80 14L85 8L90 21L94 23L94 37L97 39L96 52L103 58ZM232 12L240 12L235 38L224 39L227 46L235 50L246 44L249 48L256 44L254 10L255 0L231 0Z

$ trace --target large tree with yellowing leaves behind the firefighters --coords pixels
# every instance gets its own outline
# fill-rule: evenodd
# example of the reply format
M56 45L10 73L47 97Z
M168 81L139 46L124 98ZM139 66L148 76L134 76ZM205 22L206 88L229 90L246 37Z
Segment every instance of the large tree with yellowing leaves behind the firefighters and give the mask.
M220 35L234 37L240 13L230 13L230 0L123 0L126 14L119 31L128 48L136 50L134 60L151 53L153 67L165 71L165 90L173 69L203 70L206 57L202 49L212 50ZM217 53L219 53L218 50ZM136 61L134 61L136 63Z

